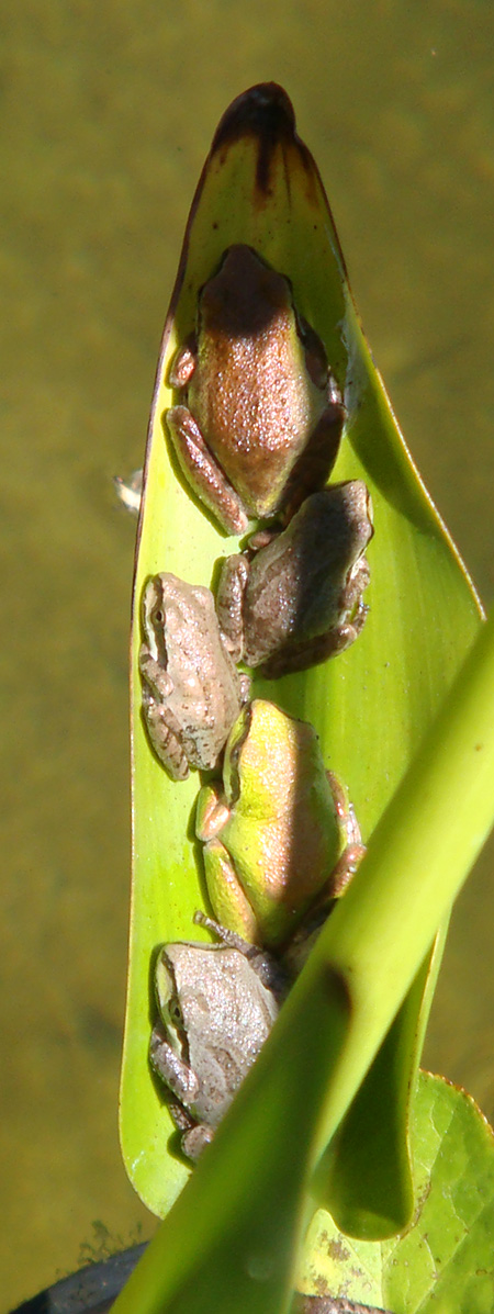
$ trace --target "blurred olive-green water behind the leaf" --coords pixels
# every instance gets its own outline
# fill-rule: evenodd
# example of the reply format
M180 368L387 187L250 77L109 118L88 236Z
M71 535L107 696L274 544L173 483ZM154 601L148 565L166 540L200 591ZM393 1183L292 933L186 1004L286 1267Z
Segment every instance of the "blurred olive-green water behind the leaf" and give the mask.
M494 9L485 0L11 0L1 35L0 1311L151 1235L120 1160L127 631L184 225L229 101L281 81L413 455L494 594ZM385 581L381 581L385 587ZM487 848L427 1042L494 1117Z

